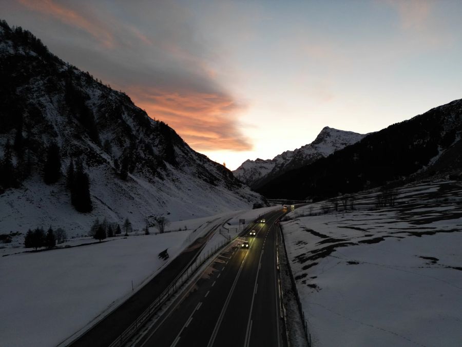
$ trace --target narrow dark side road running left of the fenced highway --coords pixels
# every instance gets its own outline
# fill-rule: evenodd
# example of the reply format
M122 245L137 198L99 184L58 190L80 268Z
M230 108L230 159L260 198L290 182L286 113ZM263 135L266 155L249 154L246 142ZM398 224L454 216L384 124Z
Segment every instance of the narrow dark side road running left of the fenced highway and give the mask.
M180 253L158 275L150 280L137 293L132 295L107 317L95 324L90 330L76 339L71 346L101 346L110 345L119 335L134 322L152 303L175 277L183 271L187 264L200 253L202 246L208 241L213 232L225 222L227 218L217 218L209 225L209 232L199 237L188 248Z

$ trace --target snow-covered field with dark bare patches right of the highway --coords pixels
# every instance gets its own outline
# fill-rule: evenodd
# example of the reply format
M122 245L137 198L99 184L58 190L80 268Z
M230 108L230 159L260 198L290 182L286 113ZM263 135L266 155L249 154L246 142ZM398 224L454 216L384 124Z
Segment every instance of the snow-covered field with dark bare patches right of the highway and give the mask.
M376 191L355 210L322 214L320 202L282 223L314 346L462 344L462 186L397 193L393 207L374 208Z

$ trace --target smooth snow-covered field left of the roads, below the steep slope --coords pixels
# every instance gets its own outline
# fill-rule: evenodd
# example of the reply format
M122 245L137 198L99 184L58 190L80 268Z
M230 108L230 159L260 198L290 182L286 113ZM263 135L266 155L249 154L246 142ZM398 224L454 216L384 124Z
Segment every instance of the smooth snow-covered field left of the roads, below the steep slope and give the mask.
M178 221L170 224L172 232L169 233L132 234L82 247L16 254L11 254L12 249L4 249L4 256L0 257L0 345L60 343L117 307L133 290L139 289L168 261L206 233L209 225L220 221L227 228L238 228L240 218L248 222L271 209ZM175 231L184 226L186 231ZM225 239L219 230L215 238ZM64 245L93 241L73 239ZM206 247L214 246L215 243ZM170 258L164 261L158 254L166 248Z

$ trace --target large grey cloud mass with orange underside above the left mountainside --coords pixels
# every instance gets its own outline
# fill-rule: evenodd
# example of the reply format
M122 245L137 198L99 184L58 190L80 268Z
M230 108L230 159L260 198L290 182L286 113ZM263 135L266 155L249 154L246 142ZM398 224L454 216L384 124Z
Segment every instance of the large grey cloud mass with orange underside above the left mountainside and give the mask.
M70 63L127 92L196 150L252 149L240 130L244 107L217 81L219 57L172 2L16 0L49 29L41 37ZM37 17L36 14L42 17ZM14 23L13 23L14 24ZM67 28L65 39L58 28ZM27 28L33 31L33 28ZM53 45L54 44L54 45Z

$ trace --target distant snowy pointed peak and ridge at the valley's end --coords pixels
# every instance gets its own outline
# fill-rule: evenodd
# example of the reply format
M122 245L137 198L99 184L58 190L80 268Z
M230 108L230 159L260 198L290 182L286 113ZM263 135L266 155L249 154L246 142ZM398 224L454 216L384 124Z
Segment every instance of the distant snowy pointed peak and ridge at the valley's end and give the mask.
M247 159L233 171L233 174L249 187L256 189L286 171L309 165L319 158L358 142L364 136L352 131L325 127L311 144L294 151L285 151L273 159Z

